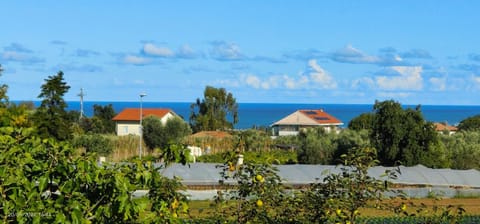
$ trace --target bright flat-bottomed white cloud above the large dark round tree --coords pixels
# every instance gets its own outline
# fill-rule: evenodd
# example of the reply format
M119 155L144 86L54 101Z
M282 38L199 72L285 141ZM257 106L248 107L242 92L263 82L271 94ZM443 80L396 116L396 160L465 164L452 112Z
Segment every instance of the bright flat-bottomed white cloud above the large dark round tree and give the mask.
M392 66L391 70L398 75L377 76L376 83L383 90L421 90L423 79L421 66Z

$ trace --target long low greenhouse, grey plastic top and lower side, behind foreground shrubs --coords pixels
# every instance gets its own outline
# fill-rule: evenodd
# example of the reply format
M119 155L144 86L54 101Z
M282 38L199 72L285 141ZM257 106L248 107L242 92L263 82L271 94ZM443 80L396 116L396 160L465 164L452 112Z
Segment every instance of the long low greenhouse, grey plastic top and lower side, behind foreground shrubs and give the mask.
M183 166L173 164L161 169L167 177L178 177L187 186L187 193L192 199L208 199L220 189L220 164L193 163ZM160 166L160 164L156 164ZM277 174L282 183L289 186L302 187L322 181L330 173L338 173L341 166L333 165L278 165ZM369 175L377 179L385 179L386 170L399 169L398 178L390 182L402 189L410 197L470 197L480 195L480 172L478 170L431 169L422 165L413 167L382 167L369 169ZM233 180L227 180L235 184Z

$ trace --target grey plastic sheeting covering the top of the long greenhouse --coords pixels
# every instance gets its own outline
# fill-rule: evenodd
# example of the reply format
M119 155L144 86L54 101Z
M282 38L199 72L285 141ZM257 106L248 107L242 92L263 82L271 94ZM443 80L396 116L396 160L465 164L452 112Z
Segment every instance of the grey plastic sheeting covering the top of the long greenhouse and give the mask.
M183 166L173 164L160 172L167 177L179 177L185 185L218 185L220 180L219 164L193 163ZM157 164L158 166L158 164ZM341 166L331 165L279 165L277 174L282 182L292 185L304 185L322 182L330 173L339 173ZM478 170L430 169L422 165L413 167L381 167L368 170L369 175L377 179L385 179L386 170L400 169L397 179L390 180L395 184L441 187L480 188L480 172ZM234 183L227 180L227 183Z

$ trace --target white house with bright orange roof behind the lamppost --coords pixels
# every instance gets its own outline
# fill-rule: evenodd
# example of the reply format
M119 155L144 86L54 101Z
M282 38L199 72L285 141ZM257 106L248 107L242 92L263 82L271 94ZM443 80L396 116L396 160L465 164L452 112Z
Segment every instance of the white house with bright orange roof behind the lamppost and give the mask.
M143 108L142 119L147 116L158 117L162 123L175 116L179 117L170 109ZM113 119L117 135L140 135L140 108L126 108Z

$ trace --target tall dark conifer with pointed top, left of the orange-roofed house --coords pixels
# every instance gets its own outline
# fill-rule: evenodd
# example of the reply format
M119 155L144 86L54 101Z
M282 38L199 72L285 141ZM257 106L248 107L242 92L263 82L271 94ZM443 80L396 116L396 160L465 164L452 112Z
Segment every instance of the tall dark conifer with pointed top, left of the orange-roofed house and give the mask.
M60 141L71 139L71 122L65 111L67 103L63 99L69 89L70 86L64 81L62 71L45 79L38 95L38 98L43 100L34 115L40 136L53 137Z

